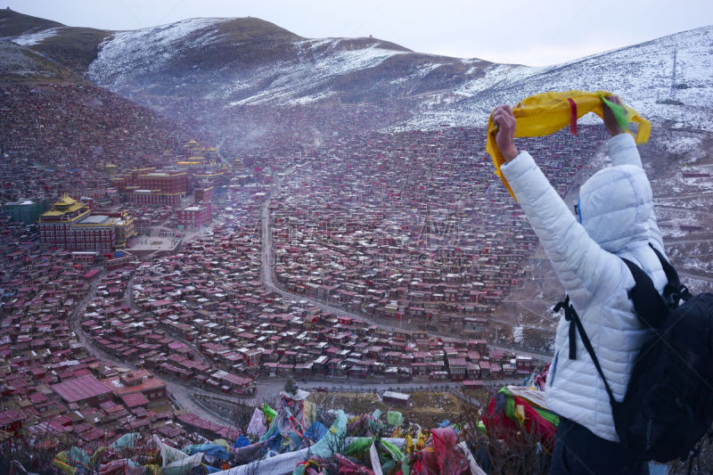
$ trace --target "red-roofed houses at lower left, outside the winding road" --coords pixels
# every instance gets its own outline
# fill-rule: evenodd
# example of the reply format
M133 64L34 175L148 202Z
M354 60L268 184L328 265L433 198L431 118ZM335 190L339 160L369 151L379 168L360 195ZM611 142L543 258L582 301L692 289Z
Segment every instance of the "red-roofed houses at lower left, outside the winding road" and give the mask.
M135 431L195 440L193 425L180 418L203 420L173 405L165 381L102 361L78 339L70 320L98 274L86 272L94 262L37 242L0 243L0 260L0 442L31 435L54 444L66 436L91 451ZM106 272L93 301L123 298L124 275ZM213 423L210 437L228 430Z

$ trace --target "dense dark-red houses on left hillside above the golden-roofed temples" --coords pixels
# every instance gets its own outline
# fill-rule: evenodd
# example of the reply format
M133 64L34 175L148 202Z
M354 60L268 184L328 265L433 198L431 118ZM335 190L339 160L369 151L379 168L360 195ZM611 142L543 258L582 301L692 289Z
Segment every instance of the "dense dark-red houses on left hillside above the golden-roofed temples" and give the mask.
M111 201L111 168L152 166L181 148L181 127L91 85L12 85L0 89L0 192L4 201L64 193ZM172 157L172 158L175 158ZM117 204L117 203L115 203ZM45 208L46 210L46 208Z

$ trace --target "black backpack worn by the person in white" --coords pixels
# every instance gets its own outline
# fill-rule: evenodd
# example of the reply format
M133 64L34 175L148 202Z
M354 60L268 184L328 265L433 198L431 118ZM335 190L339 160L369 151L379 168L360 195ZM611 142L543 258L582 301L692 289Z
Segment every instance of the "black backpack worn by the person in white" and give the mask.
M653 246L652 249L668 278L663 297L641 268L622 258L635 280L629 299L634 303L636 315L655 335L643 344L636 357L622 402L614 399L569 297L557 304L555 311L564 307L570 320L570 357L576 357L571 349L576 326L604 381L621 445L641 455L642 460L668 462L689 455L696 442L711 430L713 294L694 297L680 283L676 269L659 250ZM681 299L684 301L679 306Z

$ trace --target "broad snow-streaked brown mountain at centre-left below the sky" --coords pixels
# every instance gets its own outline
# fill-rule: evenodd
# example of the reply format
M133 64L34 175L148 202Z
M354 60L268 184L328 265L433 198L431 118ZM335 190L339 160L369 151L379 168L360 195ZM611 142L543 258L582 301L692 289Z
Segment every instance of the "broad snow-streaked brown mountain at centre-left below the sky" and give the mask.
M306 39L258 19L193 19L107 37L88 77L122 94L226 104L379 102L461 87L487 64L376 38Z

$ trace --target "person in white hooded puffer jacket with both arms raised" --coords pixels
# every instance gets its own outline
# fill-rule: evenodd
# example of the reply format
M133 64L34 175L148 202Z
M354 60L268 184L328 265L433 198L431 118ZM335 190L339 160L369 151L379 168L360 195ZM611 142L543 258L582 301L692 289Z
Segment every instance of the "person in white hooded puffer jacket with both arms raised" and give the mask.
M610 97L620 103L619 98ZM667 283L651 243L665 255L653 213L652 188L632 135L604 107L611 134L611 167L579 190L577 215L562 201L528 152L515 147L515 118L509 106L493 113L501 168L539 238L570 303L594 347L614 397L623 400L635 356L651 338L634 313L627 291L634 277L620 258L648 274L659 292ZM609 396L581 338L570 354L570 322L561 317L545 397L560 415L551 473L648 473L648 465L620 444Z

